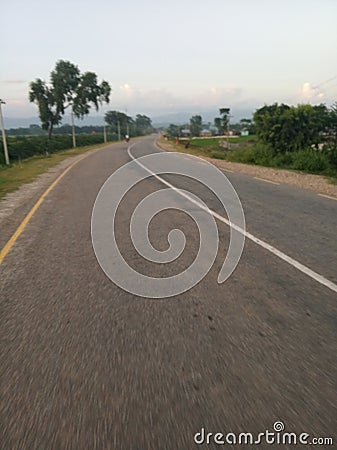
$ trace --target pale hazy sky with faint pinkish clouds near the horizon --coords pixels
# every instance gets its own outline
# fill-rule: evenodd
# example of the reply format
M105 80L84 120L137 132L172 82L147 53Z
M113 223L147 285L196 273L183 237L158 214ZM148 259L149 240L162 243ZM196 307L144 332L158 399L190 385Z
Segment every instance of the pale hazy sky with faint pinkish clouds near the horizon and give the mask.
M2 0L0 17L5 118L37 116L29 83L59 59L110 83L98 114L337 101L337 0Z

